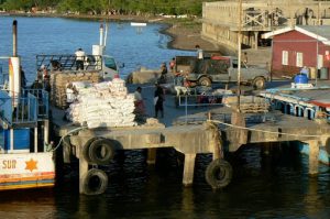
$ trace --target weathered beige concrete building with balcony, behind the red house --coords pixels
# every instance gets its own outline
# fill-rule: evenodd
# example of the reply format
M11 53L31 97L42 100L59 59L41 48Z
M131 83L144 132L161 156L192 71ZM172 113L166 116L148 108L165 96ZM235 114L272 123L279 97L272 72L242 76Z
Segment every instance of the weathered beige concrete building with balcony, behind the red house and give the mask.
M201 36L237 53L240 7L238 0L204 2ZM242 1L242 44L257 46L261 33L295 24L329 24L330 2L312 0ZM307 14L308 13L308 14ZM306 19L306 15L308 19ZM257 18L256 20L253 20ZM275 22L276 18L276 22ZM258 39L255 39L257 33Z

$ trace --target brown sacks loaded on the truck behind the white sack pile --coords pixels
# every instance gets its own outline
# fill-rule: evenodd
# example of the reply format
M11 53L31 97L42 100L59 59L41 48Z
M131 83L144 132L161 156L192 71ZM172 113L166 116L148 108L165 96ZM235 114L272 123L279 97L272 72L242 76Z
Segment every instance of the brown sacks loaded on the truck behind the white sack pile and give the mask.
M88 72L88 73L64 73L57 72L51 74L51 101L54 106L58 108L67 107L67 96L66 88L69 84L74 81L89 81L89 83L99 83L100 74L99 72Z

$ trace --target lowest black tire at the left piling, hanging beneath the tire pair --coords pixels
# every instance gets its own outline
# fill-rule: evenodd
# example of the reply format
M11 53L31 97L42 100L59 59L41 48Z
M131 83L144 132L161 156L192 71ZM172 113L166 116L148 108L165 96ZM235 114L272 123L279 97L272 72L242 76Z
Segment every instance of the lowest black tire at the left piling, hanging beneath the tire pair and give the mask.
M108 187L107 174L97 168L87 172L82 179L82 191L85 195L94 196L106 191Z

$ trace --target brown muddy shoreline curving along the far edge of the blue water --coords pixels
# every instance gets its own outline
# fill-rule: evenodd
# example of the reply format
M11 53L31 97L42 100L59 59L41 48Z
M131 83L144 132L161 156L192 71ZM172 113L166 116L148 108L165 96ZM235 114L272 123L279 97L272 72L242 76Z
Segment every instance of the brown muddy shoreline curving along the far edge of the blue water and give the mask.
M143 15L88 15L88 14L58 14L58 13L6 13L11 17L40 17L40 18L63 18L63 19L87 19L87 20L108 20L108 21L134 21L145 23L166 24L160 33L170 36L167 47L170 50L195 51L199 45L205 52L221 53L215 44L201 39L201 24L191 20L194 25L183 24L183 20L166 19L163 17ZM1 15L1 14L0 14Z

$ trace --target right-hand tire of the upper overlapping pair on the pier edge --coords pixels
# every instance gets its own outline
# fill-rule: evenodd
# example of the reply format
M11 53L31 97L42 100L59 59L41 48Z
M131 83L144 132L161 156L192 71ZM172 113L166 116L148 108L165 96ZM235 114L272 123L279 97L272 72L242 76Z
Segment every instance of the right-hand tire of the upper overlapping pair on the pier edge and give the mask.
M89 146L89 158L91 163L107 165L114 156L114 143L109 139L99 139L91 142Z

